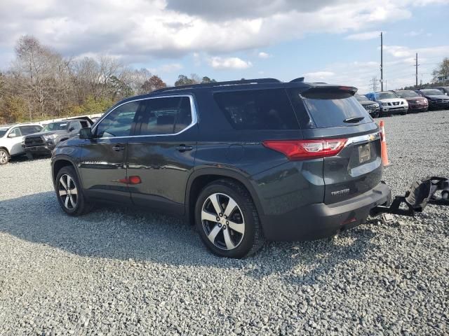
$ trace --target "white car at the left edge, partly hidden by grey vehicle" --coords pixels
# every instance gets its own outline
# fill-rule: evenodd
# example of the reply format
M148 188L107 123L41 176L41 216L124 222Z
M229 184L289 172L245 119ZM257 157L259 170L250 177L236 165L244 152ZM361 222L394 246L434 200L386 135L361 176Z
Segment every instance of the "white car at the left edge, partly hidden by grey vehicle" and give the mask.
M41 130L42 126L39 124L0 126L0 165L6 165L12 156L25 154L23 137Z

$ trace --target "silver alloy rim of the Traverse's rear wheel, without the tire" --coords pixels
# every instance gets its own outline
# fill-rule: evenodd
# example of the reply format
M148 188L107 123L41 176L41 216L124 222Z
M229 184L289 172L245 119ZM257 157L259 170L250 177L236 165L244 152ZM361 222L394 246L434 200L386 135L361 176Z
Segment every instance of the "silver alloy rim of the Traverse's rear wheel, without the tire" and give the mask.
M208 239L222 250L239 246L245 234L245 220L239 205L222 193L210 195L203 203L201 223Z

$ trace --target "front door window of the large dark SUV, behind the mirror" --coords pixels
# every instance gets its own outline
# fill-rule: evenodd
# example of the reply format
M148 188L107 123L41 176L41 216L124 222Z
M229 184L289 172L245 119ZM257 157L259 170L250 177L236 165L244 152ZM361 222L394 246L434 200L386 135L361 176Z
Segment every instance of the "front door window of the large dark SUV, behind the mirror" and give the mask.
M137 113L140 102L129 102L123 104L109 113L98 124L95 131L96 138L128 137L135 113Z

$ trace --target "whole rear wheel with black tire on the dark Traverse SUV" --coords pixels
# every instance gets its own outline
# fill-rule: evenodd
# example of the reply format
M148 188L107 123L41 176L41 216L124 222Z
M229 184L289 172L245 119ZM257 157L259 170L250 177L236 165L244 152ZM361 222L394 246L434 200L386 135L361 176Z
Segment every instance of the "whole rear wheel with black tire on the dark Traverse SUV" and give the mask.
M264 236L248 190L235 181L214 181L201 191L195 225L203 243L215 255L245 258L257 252Z

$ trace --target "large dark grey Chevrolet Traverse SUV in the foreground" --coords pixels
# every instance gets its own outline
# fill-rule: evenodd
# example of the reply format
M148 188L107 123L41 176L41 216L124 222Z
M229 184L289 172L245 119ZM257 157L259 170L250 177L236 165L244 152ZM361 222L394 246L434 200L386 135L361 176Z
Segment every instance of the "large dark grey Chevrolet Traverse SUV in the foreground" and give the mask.
M263 78L125 99L56 146L62 209L96 201L189 218L213 253L335 235L390 200L380 132L356 89Z

